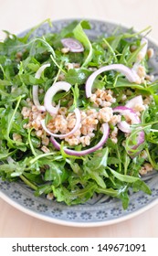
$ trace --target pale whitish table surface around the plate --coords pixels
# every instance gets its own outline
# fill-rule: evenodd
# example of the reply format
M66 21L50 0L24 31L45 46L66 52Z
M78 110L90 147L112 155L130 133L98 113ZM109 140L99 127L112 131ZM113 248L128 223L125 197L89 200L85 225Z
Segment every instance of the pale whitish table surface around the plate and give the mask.
M157 0L0 0L0 39L3 29L19 33L50 17L111 20L142 29L151 25L158 41ZM158 205L141 215L111 226L73 228L35 219L0 199L0 237L158 237Z

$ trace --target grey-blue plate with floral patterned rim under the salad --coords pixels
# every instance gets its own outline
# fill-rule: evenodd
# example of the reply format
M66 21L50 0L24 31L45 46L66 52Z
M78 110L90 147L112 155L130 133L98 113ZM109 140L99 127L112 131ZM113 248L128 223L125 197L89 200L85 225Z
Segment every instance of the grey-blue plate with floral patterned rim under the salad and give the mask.
M62 27L65 27L71 21L72 19L54 21L53 27L45 24L38 28L35 33L37 33L37 36L42 36L47 32L58 33ZM101 34L110 35L118 27L118 24L98 20L90 20L90 25L91 30L86 32L90 38L98 37ZM123 31L127 30L126 27L120 27ZM150 40L149 43L155 52L151 65L158 67L158 47L153 40ZM157 76L156 72L157 70L154 75ZM23 183L8 183L1 179L0 197L37 219L67 226L97 227L130 219L158 203L158 174L153 172L144 176L143 179L151 188L152 195L146 195L142 191L138 193L130 192L130 205L126 210L122 209L120 200L102 195L92 197L83 205L69 207L64 203L49 201L45 197L34 197L31 189Z

